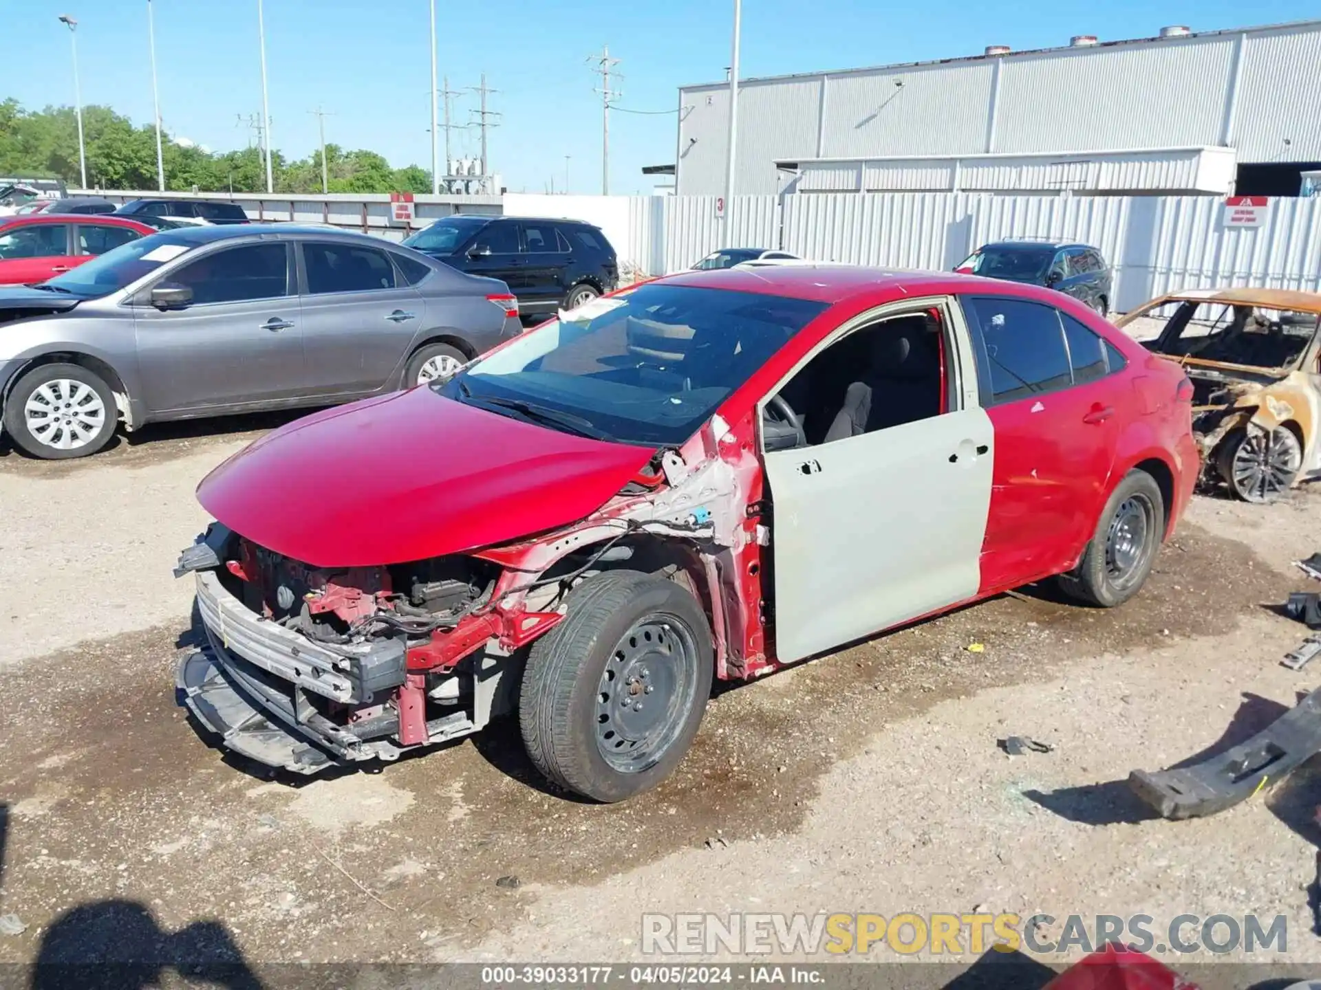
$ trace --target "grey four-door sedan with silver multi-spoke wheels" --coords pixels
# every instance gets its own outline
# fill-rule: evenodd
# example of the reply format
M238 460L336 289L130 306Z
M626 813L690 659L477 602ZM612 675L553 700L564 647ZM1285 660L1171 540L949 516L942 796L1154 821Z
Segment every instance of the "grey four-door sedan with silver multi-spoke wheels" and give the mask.
M85 457L120 417L137 429L382 395L452 375L518 334L515 313L503 282L362 234L151 234L0 290L4 429L36 457Z

